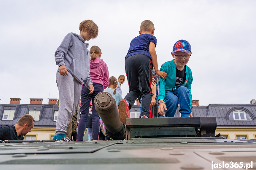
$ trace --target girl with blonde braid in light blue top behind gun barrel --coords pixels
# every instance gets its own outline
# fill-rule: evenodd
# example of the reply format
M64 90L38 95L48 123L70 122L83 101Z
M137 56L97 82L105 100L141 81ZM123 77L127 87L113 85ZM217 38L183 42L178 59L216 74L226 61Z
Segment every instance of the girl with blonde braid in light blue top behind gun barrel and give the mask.
M117 78L114 76L109 77L109 87L106 88L104 91L110 93L113 96L113 98L115 98L115 101L118 107L119 101L122 100L123 98L116 89L117 89Z

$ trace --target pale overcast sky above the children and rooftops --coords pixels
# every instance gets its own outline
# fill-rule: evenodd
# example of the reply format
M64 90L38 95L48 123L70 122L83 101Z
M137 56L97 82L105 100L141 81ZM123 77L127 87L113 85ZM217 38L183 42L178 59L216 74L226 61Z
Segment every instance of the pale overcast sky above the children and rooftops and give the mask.
M256 1L12 1L0 0L0 103L58 98L54 53L67 33L93 20L109 76L125 75L131 40L143 20L155 25L158 67L176 41L192 46L192 99L199 105L249 104L256 98ZM127 80L122 96L128 93Z

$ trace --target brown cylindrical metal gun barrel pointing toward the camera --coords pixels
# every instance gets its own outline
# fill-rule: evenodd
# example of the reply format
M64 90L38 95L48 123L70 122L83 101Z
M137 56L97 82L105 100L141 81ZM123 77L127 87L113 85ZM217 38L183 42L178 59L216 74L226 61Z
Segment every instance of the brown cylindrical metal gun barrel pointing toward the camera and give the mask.
M94 99L95 109L105 124L107 131L118 133L123 128L115 99L108 92L100 92Z

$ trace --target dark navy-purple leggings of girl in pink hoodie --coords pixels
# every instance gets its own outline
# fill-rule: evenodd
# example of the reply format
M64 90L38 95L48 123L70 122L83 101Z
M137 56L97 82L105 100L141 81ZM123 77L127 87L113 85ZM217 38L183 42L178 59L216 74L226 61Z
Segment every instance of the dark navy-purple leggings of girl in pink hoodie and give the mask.
M95 96L103 91L103 85L99 83L93 83L93 93L90 93L90 90L83 85L81 92L81 114L77 129L77 141L82 141L85 132L85 126L88 119L89 107L91 99L93 100L93 111L92 111L92 122L93 122L93 140L98 140L99 137L99 127L100 127L100 116L94 107L94 98Z

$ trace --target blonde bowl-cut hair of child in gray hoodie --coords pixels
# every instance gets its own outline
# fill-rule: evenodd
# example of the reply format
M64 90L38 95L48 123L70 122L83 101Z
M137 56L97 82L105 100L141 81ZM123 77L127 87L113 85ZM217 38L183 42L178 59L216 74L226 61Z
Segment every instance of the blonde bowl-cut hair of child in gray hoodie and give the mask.
M79 30L80 33L82 32L82 29L85 32L88 32L92 38L96 38L98 36L98 26L92 21L92 20L84 20L79 24Z

